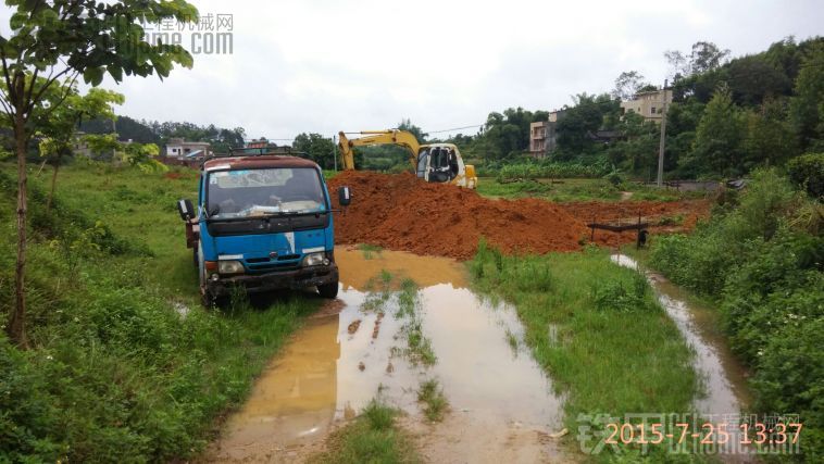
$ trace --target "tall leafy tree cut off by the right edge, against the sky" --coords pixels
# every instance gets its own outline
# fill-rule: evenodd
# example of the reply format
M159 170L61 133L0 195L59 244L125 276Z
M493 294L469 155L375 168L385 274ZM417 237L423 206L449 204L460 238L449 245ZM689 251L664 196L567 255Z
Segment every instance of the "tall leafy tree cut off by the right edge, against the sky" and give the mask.
M796 79L789 114L801 149L824 151L824 45L804 59Z

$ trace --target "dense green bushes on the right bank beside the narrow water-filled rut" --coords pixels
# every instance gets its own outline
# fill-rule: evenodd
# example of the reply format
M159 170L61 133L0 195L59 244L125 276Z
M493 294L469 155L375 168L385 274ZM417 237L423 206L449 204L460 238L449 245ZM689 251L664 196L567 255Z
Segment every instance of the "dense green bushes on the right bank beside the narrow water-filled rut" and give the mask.
M810 231L820 225L798 221L810 208L820 205L760 171L737 208L689 237L657 240L650 261L719 301L731 346L753 373L753 407L800 413L813 462L824 452L824 239Z

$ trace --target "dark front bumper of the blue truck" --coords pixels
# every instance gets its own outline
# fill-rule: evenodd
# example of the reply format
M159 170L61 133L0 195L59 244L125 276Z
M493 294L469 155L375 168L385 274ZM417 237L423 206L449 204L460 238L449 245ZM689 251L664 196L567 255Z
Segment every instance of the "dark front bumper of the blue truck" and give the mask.
M257 293L283 289L297 290L337 281L338 266L335 263L329 263L328 266L311 266L294 271L222 277L217 280L209 279L207 281L207 290L213 297L221 297L230 294L232 289L235 287L245 287L247 292Z

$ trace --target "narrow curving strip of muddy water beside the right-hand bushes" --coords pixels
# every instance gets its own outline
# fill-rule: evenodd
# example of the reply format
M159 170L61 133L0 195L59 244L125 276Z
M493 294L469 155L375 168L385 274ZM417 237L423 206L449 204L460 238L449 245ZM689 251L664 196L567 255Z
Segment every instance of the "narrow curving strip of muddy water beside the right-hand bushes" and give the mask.
M723 336L719 333L717 317L712 310L694 301L662 275L642 269L624 254L613 254L612 261L621 266L642 271L656 291L658 301L675 322L687 344L695 351L694 368L702 381L704 394L694 400L694 410L708 422L727 423L733 439L739 440L739 414L746 411L750 396L746 373L734 359ZM749 462L752 450L731 447L725 450L727 462Z

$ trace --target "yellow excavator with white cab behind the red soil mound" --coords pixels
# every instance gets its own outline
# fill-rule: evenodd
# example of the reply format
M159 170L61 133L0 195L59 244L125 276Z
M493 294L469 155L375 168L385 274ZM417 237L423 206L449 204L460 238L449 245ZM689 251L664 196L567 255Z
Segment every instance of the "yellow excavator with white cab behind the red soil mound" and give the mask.
M397 145L409 150L409 160L415 175L427 183L452 184L472 189L478 185L475 166L463 164L461 152L452 143L419 145L412 133L398 129L363 130L358 134L363 137L349 139L346 133L338 133L338 147L345 170L354 170L354 147Z

